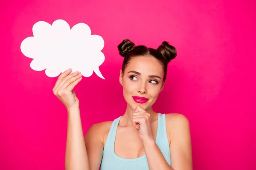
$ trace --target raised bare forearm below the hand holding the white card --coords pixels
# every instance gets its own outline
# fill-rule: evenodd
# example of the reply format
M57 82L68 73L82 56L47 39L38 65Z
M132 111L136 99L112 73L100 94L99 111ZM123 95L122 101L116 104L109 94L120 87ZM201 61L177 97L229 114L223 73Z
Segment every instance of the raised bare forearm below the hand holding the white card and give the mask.
M65 170L90 170L79 108L68 109Z

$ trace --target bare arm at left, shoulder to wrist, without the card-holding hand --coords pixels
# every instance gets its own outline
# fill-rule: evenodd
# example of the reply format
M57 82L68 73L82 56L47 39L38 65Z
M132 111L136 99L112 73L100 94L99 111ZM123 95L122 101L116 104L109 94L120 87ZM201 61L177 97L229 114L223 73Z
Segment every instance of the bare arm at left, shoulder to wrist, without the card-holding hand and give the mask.
M102 125L92 125L84 137L80 111L68 111L68 132L65 157L66 170L99 170L102 154Z

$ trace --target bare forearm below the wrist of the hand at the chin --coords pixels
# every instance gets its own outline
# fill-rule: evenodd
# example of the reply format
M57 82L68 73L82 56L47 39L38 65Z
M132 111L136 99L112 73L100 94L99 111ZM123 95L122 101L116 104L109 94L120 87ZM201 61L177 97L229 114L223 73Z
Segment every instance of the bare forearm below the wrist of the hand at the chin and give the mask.
M154 139L143 142L150 170L173 170L166 162Z

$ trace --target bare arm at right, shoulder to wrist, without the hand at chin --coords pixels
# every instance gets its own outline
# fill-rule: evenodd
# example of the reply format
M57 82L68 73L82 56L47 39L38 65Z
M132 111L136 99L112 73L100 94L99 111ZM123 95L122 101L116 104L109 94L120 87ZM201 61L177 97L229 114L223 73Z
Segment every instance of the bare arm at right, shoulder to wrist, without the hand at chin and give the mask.
M192 149L189 122L182 114L168 115L166 124L173 131L170 154L172 167L166 162L154 139L143 142L150 170L192 170ZM168 128L168 126L167 126Z

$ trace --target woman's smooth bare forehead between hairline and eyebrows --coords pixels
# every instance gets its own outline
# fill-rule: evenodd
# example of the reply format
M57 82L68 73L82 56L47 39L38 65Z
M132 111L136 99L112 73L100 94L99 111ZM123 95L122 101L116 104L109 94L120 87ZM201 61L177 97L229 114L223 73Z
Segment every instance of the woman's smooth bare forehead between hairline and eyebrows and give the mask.
M137 71L141 74L147 75L163 75L163 66L155 59L150 56L139 56L132 58L125 68L125 72Z

